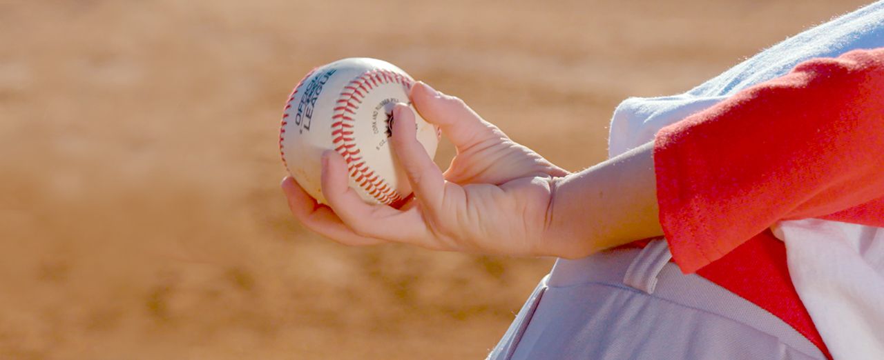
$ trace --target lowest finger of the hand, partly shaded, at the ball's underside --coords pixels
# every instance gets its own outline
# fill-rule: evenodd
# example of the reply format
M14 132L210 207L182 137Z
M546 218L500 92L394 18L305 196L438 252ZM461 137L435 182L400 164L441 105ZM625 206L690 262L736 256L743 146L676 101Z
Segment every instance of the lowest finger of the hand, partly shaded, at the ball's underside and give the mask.
M288 208L307 229L329 237L340 244L360 246L385 243L381 239L354 233L353 230L347 228L343 221L340 221L338 215L334 214L331 208L317 204L316 200L311 198L307 191L301 189L301 186L295 183L292 177L286 176L280 186L286 194Z

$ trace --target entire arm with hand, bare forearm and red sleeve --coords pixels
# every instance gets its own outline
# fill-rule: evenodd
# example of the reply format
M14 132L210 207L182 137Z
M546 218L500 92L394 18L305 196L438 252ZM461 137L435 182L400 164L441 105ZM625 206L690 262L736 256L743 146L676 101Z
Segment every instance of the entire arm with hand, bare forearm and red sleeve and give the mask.
M415 190L408 205L363 203L333 152L323 171L331 206L291 178L283 190L309 229L343 244L580 258L662 233L692 272L780 219L884 197L884 156L874 150L884 148L882 53L800 65L660 131L653 146L573 175L420 84L411 94L416 109L458 154L442 173L414 139L408 107L394 109L393 149ZM796 127L804 131L790 131ZM752 146L764 151L746 151ZM884 218L881 207L859 213Z

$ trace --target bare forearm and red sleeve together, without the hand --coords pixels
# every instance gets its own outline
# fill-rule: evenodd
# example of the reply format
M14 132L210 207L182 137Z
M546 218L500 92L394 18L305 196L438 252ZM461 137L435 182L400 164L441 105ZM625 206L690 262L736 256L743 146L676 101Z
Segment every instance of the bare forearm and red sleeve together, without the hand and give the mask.
M882 63L884 49L800 64L556 180L547 232L573 239L566 258L665 233L692 272L783 219L884 226Z

